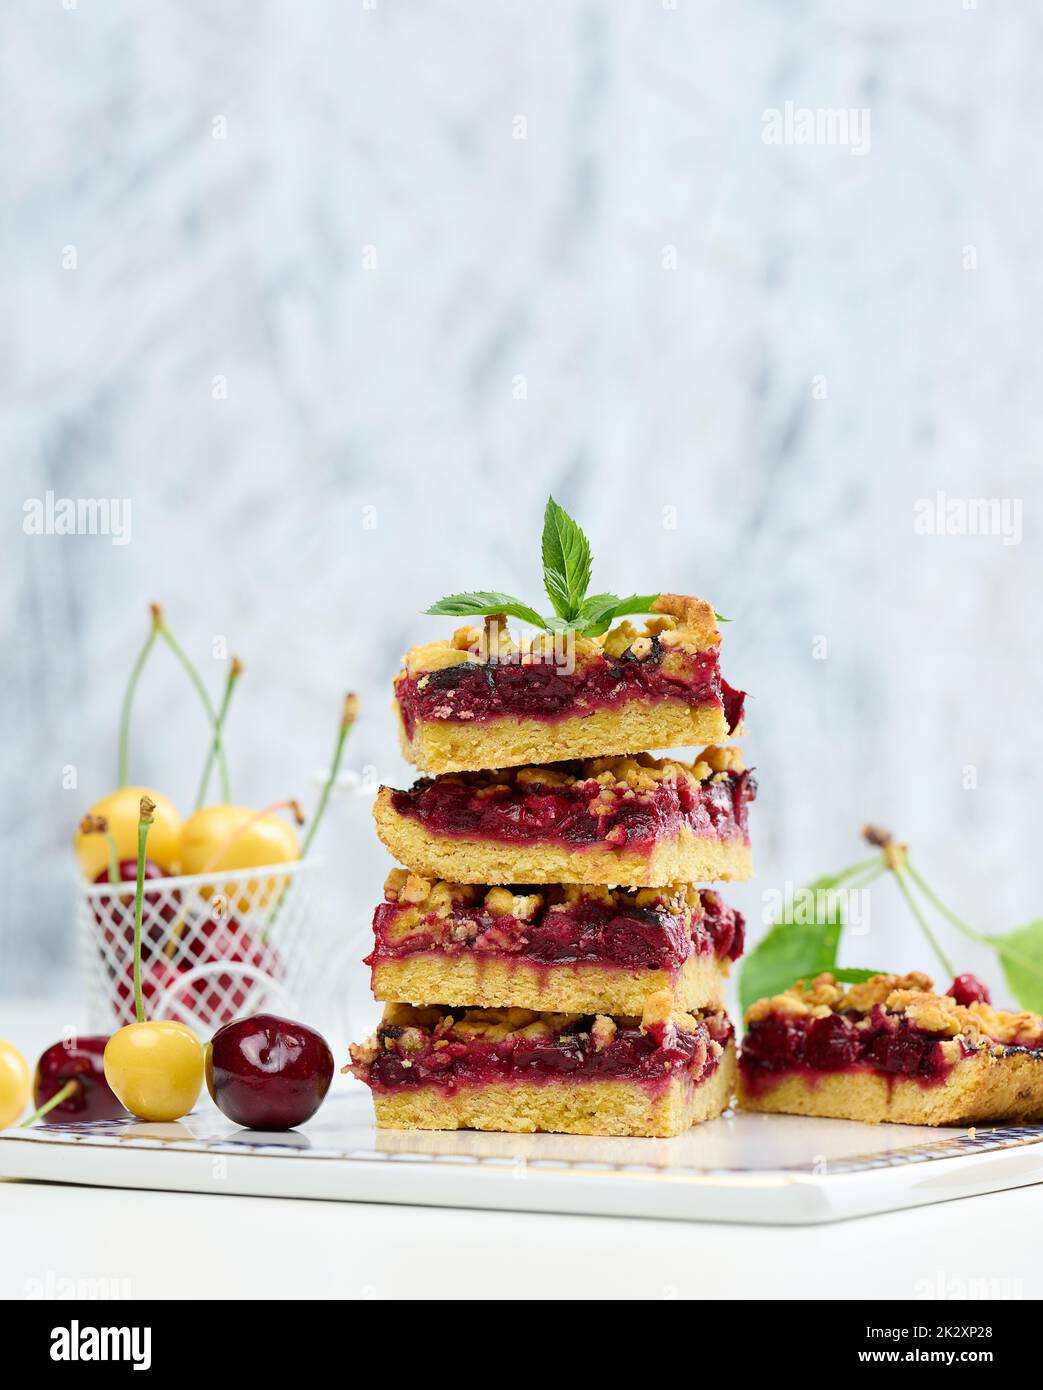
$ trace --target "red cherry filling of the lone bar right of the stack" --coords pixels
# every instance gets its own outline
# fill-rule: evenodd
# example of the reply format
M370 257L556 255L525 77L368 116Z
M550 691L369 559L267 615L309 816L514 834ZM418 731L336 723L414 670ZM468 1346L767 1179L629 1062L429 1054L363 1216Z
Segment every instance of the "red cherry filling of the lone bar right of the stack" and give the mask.
M957 1044L955 1051L943 1047L948 1042ZM738 1065L752 1094L777 1084L787 1072L809 1079L822 1072L879 1072L940 1086L973 1051L962 1037L926 1033L878 1004L869 1015L768 1015L748 1029Z

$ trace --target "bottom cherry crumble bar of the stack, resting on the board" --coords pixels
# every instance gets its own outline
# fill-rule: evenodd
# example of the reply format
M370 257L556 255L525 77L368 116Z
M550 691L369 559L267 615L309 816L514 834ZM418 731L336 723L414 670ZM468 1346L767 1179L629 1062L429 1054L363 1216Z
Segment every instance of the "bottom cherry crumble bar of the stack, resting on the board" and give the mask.
M680 1134L734 1090L726 1013L641 1017L389 1004L345 1069L373 1091L382 1129L531 1134Z

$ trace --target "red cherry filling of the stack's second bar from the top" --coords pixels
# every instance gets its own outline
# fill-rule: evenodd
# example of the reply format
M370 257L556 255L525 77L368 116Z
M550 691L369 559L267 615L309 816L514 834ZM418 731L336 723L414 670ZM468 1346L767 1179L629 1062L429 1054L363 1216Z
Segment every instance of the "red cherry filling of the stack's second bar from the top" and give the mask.
M583 777L580 763L555 763L553 770ZM663 780L654 790L627 795L606 792L594 777L542 785L538 780L490 784L483 774L420 778L409 791L392 792L399 816L419 820L437 835L496 840L506 844L609 844L649 851L656 841L693 834L722 840L748 838L748 806L757 796L751 771L720 773L697 783Z

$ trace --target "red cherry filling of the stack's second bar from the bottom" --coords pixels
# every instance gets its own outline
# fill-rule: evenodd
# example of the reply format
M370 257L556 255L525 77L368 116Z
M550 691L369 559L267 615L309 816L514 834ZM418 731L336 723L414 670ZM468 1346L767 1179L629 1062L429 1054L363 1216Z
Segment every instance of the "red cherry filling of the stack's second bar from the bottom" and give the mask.
M626 970L677 970L691 955L737 960L743 954L743 915L716 892L701 894L701 909L638 908L620 897L622 902L581 897L574 903L540 908L528 917L494 915L484 902L453 906L448 916L382 902L373 917L375 947L366 965L421 951L474 951L548 966L584 962ZM409 922L409 913L417 920Z

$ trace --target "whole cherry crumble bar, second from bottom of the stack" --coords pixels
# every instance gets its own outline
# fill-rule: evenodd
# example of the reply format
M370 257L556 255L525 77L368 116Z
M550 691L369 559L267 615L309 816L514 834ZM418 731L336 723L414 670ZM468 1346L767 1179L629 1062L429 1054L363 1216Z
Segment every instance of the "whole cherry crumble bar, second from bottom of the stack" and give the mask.
M366 958L378 999L640 1015L649 994L679 1011L720 1006L743 954L743 916L716 892L488 888L392 869Z

